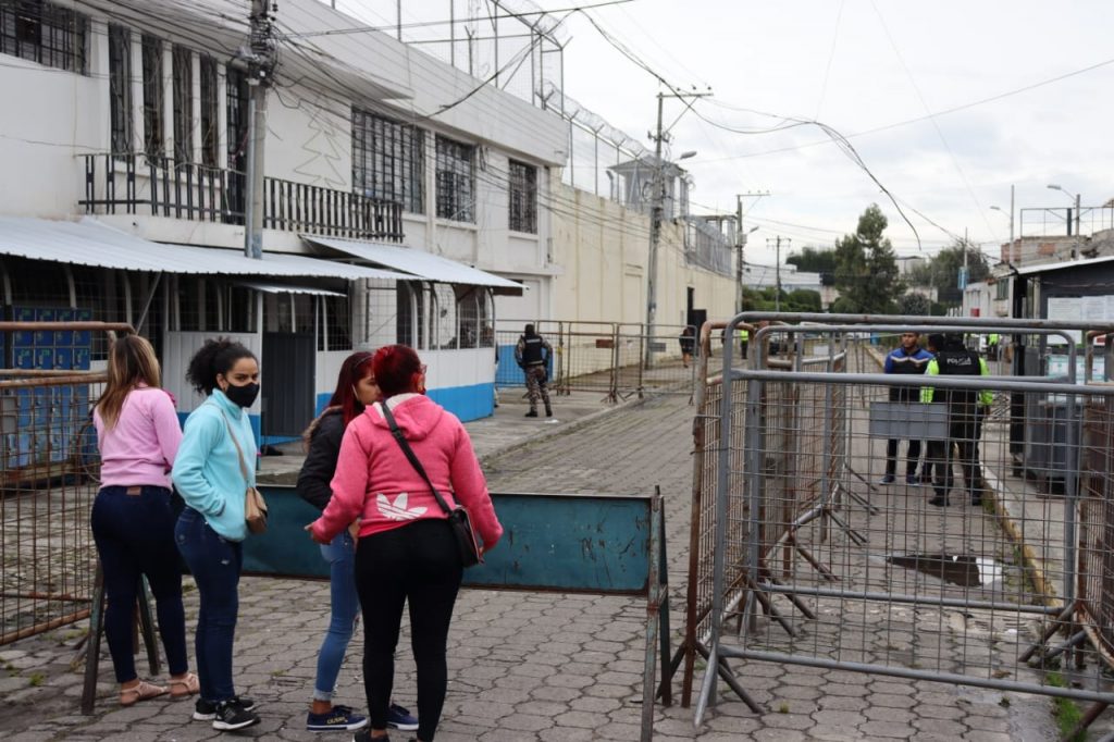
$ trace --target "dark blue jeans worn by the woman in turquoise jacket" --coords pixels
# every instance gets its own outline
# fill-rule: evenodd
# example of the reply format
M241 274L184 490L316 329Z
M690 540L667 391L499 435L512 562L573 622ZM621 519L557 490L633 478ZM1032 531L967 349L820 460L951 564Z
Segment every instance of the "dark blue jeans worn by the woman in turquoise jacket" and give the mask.
M232 682L232 642L240 609L240 572L244 549L205 523L205 516L186 508L178 518L174 538L197 583L201 608L197 613L195 653L202 697L228 701L236 695Z

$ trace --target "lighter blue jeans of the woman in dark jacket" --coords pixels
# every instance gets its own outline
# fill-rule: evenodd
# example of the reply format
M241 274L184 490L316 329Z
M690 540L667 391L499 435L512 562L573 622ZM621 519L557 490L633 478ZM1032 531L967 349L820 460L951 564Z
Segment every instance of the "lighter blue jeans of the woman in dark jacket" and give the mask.
M352 640L355 617L360 612L360 599L355 594L355 543L346 528L331 544L321 547L321 556L329 563L332 617L317 654L313 700L332 701L336 676L341 672L341 663L344 662L344 653Z

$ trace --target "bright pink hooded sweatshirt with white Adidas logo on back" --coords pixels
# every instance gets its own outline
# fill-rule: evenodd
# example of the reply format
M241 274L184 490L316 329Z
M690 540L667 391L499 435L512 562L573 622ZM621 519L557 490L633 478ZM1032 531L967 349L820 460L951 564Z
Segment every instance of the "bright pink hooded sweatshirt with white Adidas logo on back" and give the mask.
M455 414L423 394L395 394L387 401L426 473L452 508L468 508L472 527L490 549L502 536L468 431ZM372 536L423 518L444 518L424 482L372 404L344 431L332 499L313 523L320 541L331 540L362 517L360 536Z

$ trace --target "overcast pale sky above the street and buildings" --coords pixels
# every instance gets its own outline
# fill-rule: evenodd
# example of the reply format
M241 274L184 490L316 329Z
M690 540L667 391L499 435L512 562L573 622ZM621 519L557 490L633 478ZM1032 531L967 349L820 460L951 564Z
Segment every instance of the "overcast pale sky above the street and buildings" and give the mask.
M556 17L599 1L535 0ZM403 21L419 17L413 3L403 3ZM449 8L447 0L420 6L424 18ZM1051 183L1081 194L1084 207L1114 197L1111 0L633 0L587 12L672 85L711 87L714 96L696 104L711 121L768 129L784 124L780 117L815 119L847 136L908 206L920 254L967 230L996 256L1009 235L1010 185L1018 213L1072 205ZM565 29L566 92L652 149L646 133L665 88L580 13ZM666 100L665 111L673 121L683 104ZM734 213L735 194L770 192L744 201L746 226L760 226L749 262L772 262L764 244L778 235L792 250L830 246L872 202L889 218L898 253L918 254L895 205L815 126L739 134L688 111L671 135L673 156L698 153L684 162L697 213ZM1018 223L1015 214L1020 233Z

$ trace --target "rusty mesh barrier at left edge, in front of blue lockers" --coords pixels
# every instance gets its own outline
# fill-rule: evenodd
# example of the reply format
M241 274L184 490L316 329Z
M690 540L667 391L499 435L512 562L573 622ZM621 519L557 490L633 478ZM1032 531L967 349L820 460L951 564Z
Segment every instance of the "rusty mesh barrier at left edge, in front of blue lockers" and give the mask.
M9 358L32 367L0 370L0 645L90 613L99 475L90 416L107 375L88 370L88 349L99 332L131 328L0 322Z

